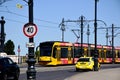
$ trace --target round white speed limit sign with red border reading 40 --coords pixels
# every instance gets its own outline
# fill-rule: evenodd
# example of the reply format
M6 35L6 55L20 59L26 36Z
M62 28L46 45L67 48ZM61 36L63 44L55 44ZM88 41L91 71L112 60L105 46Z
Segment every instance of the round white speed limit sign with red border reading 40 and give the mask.
M37 30L37 26L34 23L27 23L23 27L23 33L29 38L34 37L37 33Z

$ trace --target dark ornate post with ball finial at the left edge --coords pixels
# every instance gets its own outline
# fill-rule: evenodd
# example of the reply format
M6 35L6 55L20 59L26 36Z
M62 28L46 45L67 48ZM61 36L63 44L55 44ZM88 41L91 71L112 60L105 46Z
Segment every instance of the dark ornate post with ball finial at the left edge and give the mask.
M1 24L0 52L4 52L4 42L5 42L4 24L5 24L5 20L4 20L3 16L1 17L0 24Z

